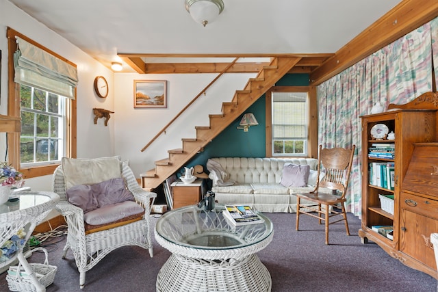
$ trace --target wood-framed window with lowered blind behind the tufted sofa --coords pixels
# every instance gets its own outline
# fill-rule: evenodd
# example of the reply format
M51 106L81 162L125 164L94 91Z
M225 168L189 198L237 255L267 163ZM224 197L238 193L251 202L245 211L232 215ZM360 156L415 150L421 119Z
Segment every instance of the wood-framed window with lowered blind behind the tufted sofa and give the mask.
M314 107L307 87L274 87L266 93L267 157L315 157Z

